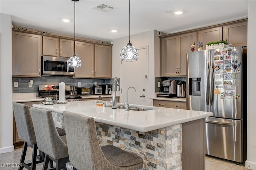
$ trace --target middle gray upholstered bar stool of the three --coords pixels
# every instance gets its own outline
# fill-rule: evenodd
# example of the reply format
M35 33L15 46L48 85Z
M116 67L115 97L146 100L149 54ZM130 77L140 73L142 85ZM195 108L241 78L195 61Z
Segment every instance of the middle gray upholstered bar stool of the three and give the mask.
M56 170L61 170L61 168L66 170L66 162L69 162L66 136L60 136L58 134L52 112L31 107L30 115L38 149L46 154L43 170L47 170L49 159L56 162ZM41 131L44 131L44 133L41 133Z

